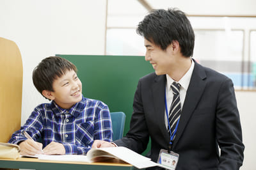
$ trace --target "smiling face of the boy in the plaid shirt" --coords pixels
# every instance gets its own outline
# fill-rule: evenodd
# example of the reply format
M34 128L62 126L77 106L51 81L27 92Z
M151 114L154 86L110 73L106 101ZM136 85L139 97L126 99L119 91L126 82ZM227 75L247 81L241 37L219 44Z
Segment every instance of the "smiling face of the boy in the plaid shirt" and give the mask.
M82 82L74 70L57 77L52 83L52 88L54 91L51 91L51 100L63 109L69 109L82 100Z

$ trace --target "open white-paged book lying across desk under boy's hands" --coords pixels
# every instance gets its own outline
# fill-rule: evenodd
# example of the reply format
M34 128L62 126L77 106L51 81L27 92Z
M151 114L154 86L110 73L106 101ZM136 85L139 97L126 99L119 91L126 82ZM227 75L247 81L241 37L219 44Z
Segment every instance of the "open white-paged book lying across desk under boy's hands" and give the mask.
M55 160L55 161L74 161L74 162L102 162L111 158L118 158L124 162L137 167L138 169L161 166L150 160L150 158L144 157L128 148L118 146L111 148L93 148L88 151L87 155L35 155L40 160Z

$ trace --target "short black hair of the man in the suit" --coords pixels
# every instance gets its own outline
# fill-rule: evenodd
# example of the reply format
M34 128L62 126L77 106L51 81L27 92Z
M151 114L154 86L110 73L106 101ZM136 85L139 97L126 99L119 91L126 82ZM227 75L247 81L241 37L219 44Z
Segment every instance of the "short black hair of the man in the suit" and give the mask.
M163 50L177 40L182 55L193 56L195 34L186 14L180 10L152 10L138 24L136 32Z

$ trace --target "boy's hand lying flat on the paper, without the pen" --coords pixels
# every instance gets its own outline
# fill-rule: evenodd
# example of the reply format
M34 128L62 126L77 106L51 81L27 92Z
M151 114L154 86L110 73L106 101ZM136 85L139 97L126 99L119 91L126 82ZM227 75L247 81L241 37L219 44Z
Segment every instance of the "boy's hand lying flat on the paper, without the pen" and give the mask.
M54 155L54 154L65 155L66 153L66 150L63 144L55 143L55 142L51 142L50 144L45 146L43 151L45 155Z

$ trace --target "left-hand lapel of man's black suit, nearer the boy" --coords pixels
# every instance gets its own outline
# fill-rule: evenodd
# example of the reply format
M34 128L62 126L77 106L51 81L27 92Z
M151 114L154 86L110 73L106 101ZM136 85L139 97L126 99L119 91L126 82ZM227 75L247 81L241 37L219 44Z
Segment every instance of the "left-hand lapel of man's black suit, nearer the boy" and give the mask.
M154 98L154 109L156 112L156 125L161 129L161 132L159 133L163 134L164 139L169 142L170 137L166 130L164 121L164 89L166 86L166 75L156 76L154 81L155 82L152 85L152 94ZM164 144L166 144L166 141L163 141Z

